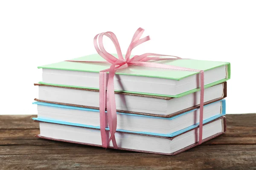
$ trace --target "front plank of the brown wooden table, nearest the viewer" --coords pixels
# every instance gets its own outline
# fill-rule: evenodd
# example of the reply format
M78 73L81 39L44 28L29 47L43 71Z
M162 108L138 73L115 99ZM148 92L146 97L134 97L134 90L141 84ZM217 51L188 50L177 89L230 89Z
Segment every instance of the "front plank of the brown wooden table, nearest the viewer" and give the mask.
M17 150L19 152L17 152ZM256 167L256 146L201 146L177 156L46 145L0 147L3 169L247 169ZM26 158L26 159L25 159Z

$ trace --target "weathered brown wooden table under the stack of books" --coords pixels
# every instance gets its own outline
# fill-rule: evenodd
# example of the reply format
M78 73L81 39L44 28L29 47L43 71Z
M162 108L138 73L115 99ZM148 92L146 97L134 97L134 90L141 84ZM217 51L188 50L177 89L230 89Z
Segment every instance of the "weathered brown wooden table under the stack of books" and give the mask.
M0 116L0 169L256 169L256 114L227 115L227 133L177 156L38 139L36 115Z

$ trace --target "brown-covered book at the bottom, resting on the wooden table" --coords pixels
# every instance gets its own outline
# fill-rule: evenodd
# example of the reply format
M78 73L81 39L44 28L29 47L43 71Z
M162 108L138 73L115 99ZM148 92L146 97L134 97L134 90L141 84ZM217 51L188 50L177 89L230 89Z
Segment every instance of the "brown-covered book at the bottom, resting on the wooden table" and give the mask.
M61 125L54 122L38 121L40 124L39 138L62 142L87 144L101 147L100 130L93 127L79 127L68 124ZM175 155L198 145L198 126L180 132L173 137L145 135L129 132L115 133L116 142L120 150L131 150L146 153ZM221 116L203 125L203 142L219 136L226 131L226 119ZM109 136L109 131L107 131ZM113 148L110 142L110 148Z

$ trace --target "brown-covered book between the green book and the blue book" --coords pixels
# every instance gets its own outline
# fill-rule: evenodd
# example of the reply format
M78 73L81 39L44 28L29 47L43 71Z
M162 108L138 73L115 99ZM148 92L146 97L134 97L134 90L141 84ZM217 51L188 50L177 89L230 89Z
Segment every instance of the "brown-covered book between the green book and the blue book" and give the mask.
M55 85L39 86L38 102L99 109L99 90ZM224 99L227 82L214 85L204 91L204 105ZM199 107L200 91L180 98L115 92L116 109L122 113L171 117Z

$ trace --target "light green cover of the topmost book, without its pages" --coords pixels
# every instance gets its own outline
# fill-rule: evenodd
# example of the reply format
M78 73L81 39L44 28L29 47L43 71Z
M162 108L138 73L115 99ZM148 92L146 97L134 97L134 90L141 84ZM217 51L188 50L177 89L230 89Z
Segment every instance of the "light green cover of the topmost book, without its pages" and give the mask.
M116 54L113 54L117 57ZM75 59L70 60L82 60L82 61L105 61L99 54L93 54L88 55L84 57L79 57ZM227 72L228 77L226 79L219 80L217 82L211 83L209 85L205 85L205 88L211 87L212 85L219 84L221 82L225 82L226 80L230 79L230 63L229 62L215 62L215 61L205 61L205 60L196 60L196 59L177 59L177 60L166 60L166 61L157 61L157 63L162 63L166 65L175 65L185 68L192 68L197 70L210 70L213 68L221 67L223 65L227 65ZM110 67L111 64L108 63L79 63L79 62L67 62L67 61L61 61L49 65L43 65L39 66L38 68L48 68L48 69L58 69L58 70L70 70L70 71L87 71L87 72L96 72L99 73L99 71L102 71L104 69L107 69ZM128 68L120 69L116 71L116 74L125 74L125 75L133 75L133 76L143 76L143 77L158 77L163 79L175 79L180 80L185 77L192 76L194 74L199 74L195 71L178 71L178 70L169 70L169 69L159 69L159 68L148 68L148 67L140 67L140 66L134 66L131 65ZM41 84L48 84L40 82ZM65 86L65 85L61 85ZM71 87L71 86L69 86ZM73 86L74 87L74 86ZM85 88L85 87L79 87L79 88ZM95 88L93 88L95 89ZM170 96L170 97L181 97L190 93L193 93L195 91L199 91L200 89L193 89L191 91L187 91L183 94ZM128 92L128 91L123 91ZM134 93L134 92L128 92L128 93ZM141 94L141 93L140 93ZM157 95L158 94L150 94L150 95ZM168 95L162 95L162 96L168 96Z

